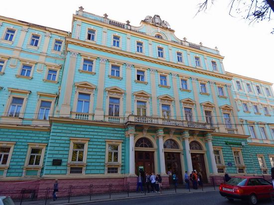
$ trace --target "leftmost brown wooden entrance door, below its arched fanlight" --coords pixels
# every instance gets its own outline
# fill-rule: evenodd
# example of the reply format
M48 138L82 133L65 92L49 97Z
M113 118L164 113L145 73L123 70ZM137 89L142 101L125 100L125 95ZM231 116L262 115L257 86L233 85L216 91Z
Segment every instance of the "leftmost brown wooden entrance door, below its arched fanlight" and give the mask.
M135 151L135 173L138 174L138 167L142 166L144 173L154 172L154 152Z

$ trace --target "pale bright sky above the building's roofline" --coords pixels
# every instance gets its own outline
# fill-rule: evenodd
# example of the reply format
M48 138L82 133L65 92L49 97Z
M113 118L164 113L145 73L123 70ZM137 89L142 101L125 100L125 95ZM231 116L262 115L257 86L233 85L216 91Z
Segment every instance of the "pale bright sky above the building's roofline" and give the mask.
M240 15L229 15L230 0L215 0L196 16L203 0L13 0L1 2L0 15L71 31L72 14L84 11L138 26L145 16L160 15L175 35L204 46L218 47L225 70L274 83L274 20L249 24Z

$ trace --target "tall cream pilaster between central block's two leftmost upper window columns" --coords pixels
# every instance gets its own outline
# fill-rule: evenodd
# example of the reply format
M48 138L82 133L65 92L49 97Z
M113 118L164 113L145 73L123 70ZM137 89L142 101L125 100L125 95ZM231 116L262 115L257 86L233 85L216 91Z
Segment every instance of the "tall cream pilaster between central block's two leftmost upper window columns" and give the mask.
M105 58L100 58L100 68L99 68L99 85L97 87L97 99L96 108L94 113L95 120L104 120L104 91L105 91L105 72L106 72L106 61Z

